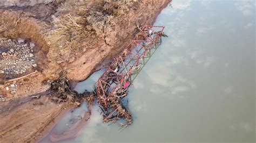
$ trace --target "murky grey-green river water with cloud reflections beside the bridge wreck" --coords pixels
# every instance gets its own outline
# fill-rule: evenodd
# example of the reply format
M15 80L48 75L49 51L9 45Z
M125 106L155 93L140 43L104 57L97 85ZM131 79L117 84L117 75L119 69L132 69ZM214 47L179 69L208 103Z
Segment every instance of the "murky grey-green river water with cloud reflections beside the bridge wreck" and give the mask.
M133 124L104 124L96 106L63 142L255 142L255 2L171 4L155 23L169 38L129 89Z

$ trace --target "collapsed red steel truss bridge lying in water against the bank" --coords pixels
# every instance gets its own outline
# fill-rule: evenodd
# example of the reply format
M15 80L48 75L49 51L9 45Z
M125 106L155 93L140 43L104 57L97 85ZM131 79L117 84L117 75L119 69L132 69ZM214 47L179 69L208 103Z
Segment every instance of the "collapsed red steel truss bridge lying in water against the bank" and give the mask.
M146 25L141 28L136 37L124 48L106 68L97 84L97 102L105 109L109 109L104 120L117 112L119 106L113 107L109 102L111 96L123 98L127 95L134 78L150 59L152 51L161 44L164 26Z

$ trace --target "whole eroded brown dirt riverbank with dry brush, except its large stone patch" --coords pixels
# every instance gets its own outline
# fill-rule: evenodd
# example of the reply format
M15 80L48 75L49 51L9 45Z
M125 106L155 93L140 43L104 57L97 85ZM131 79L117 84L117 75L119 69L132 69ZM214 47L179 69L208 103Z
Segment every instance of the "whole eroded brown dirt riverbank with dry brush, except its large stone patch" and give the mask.
M0 38L35 44L37 63L24 73L0 73L0 95L4 98L0 101L0 142L41 137L66 105L53 103L50 95L26 99L48 90L64 70L70 81L84 80L104 60L122 51L138 32L137 26L153 24L169 2L70 0L22 7L0 5Z

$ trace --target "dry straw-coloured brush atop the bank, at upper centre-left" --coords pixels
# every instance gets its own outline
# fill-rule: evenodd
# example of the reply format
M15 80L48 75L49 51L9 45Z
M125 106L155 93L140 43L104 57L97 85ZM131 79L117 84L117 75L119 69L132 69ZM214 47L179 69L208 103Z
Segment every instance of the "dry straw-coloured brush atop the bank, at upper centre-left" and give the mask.
M64 3L53 16L54 30L48 33L47 40L56 48L72 49L83 46L83 41L90 38L105 38L105 31L116 25L116 19L125 15L131 8L136 8L134 1L98 1L95 8L87 8L89 1ZM133 7L134 6L134 7ZM76 46L73 46L76 45Z

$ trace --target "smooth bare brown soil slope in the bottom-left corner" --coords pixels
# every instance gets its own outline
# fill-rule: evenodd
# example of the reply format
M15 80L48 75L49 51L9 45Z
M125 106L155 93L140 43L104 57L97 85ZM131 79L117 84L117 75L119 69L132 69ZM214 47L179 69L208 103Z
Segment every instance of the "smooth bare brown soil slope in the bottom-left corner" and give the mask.
M57 105L50 100L43 96L1 114L0 142L35 141L46 126L54 125L55 118L64 110L65 104Z

